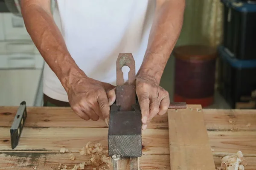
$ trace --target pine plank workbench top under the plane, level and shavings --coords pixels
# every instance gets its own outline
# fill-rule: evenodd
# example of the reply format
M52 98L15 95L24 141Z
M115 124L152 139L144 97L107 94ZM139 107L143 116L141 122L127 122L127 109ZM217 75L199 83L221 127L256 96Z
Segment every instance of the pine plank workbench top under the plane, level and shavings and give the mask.
M197 105L188 105L196 109ZM104 121L84 121L70 108L27 108L28 117L19 145L12 150L10 127L17 107L0 107L0 170L51 170L64 163L69 167L88 160L78 150L89 141L107 146L108 128ZM256 110L204 109L215 166L221 156L241 150L248 161L246 170L256 170ZM236 121L230 123L229 119ZM236 129L239 129L236 131ZM232 131L233 130L233 131ZM169 170L169 133L167 114L156 116L143 131L143 170ZM59 153L66 147L76 156ZM85 170L92 170L87 167Z

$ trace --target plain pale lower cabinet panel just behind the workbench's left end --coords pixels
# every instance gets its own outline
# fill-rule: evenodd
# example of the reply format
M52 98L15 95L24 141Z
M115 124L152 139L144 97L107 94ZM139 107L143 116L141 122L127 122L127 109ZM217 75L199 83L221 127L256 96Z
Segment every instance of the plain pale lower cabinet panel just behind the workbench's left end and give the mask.
M41 70L0 70L0 105L18 106L26 101L33 106Z

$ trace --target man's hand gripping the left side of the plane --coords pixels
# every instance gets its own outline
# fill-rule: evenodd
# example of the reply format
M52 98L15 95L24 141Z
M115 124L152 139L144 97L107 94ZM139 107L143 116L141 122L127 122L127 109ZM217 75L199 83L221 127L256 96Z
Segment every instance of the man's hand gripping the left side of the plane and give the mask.
M82 119L108 118L110 105L116 100L115 86L86 76L73 77L66 90L70 106Z

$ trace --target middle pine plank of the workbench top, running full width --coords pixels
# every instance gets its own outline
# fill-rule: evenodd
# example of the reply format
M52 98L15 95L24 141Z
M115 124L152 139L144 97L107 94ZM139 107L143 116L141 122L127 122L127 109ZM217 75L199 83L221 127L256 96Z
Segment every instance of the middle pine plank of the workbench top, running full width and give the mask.
M107 128L49 127L23 129L19 145L15 150L59 152L67 147L78 152L87 142L107 143ZM0 150L12 151L8 127L0 127ZM169 154L169 132L166 129L148 129L142 132L143 154ZM212 152L215 156L236 153L256 156L256 131L208 131Z

